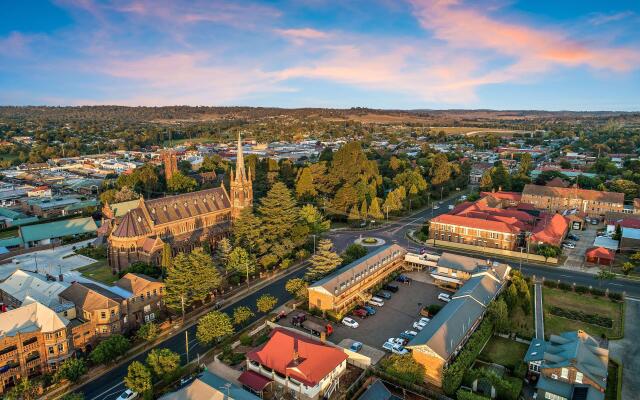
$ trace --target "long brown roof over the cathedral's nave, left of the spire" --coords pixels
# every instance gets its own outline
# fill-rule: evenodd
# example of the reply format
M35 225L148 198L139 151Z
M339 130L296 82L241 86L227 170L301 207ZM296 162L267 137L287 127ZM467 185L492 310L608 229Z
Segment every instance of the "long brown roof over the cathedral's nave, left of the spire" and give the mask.
M166 224L184 218L228 209L231 202L222 187L179 194L144 203L154 224Z

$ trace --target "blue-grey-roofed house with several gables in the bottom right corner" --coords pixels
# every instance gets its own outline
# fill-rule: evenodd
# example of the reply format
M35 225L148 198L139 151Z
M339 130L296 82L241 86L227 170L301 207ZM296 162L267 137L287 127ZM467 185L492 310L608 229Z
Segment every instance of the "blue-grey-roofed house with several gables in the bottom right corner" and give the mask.
M524 358L538 398L603 400L609 351L584 331L533 339Z

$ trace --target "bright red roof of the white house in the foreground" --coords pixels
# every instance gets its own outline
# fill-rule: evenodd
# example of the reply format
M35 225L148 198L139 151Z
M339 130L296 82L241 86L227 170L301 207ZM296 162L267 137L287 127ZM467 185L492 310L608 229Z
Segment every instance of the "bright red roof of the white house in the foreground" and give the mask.
M317 385L348 358L340 349L283 329L274 329L269 341L247 357L307 386Z

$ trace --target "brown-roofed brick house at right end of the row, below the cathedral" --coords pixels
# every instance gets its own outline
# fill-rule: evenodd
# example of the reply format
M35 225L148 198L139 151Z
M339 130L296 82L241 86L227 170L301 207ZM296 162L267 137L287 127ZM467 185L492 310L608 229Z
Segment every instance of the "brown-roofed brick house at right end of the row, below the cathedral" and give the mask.
M164 309L162 296L165 285L157 279L144 274L127 273L115 282L115 286L131 293L127 299L129 329L154 321Z

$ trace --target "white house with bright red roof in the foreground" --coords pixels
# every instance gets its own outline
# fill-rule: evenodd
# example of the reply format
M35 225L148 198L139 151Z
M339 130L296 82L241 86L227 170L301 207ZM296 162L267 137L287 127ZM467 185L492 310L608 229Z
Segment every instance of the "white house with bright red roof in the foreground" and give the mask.
M261 375L298 399L329 398L340 384L347 358L338 347L277 328L264 345L247 353L247 370L240 381Z

